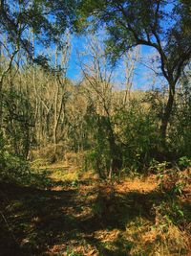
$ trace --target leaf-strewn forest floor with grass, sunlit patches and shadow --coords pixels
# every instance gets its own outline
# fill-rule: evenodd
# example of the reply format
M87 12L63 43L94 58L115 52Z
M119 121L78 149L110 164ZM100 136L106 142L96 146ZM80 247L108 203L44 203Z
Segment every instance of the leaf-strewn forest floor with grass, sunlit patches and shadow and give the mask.
M191 255L191 189L159 189L156 175L112 184L65 163L30 186L0 183L0 255Z

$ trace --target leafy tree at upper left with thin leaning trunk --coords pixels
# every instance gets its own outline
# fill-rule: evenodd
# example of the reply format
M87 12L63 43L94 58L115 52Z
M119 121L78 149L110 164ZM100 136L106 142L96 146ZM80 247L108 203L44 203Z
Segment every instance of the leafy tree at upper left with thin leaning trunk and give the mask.
M1 51L10 50L10 62L0 77L0 125L2 119L2 90L5 75L11 70L14 58L22 51L24 58L45 68L50 68L45 54L34 53L31 35L35 36L38 48L46 48L52 43L62 47L61 36L74 20L75 0L1 0L0 37ZM5 48L4 39L7 44ZM38 49L39 50L39 49ZM22 61L23 61L22 58Z

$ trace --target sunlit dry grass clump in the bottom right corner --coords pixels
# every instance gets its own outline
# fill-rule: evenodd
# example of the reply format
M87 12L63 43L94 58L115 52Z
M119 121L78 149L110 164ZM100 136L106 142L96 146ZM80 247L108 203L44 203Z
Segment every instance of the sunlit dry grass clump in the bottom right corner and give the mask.
M129 255L171 256L188 255L188 235L172 222L152 221L139 217L126 226L123 238L132 243Z

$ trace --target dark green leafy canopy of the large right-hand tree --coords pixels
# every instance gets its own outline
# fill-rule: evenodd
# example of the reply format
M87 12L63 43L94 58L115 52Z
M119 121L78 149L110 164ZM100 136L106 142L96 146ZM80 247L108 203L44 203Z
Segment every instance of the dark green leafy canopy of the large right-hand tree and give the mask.
M169 60L176 63L176 59L180 58L185 50L181 47L187 47L190 41L188 6L189 4L179 1L170 9L167 2L157 0L83 0L79 5L78 18L93 16L96 19L96 28L99 22L106 24L109 34L108 50L114 59L138 44L152 46L161 53L159 40L165 38L164 53ZM179 16L179 19L175 20L175 16ZM168 22L169 26L161 26L164 21ZM175 53L178 53L179 57ZM174 58L175 56L177 58Z

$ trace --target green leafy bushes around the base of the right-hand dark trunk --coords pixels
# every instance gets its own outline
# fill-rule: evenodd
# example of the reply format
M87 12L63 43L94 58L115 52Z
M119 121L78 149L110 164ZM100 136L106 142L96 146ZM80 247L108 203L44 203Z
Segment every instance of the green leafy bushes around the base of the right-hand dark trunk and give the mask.
M162 99L159 92L147 93L146 100L133 100L128 108L116 108L111 115L110 122L114 131L117 145L117 153L121 156L121 169L127 173L144 173L149 171L163 176L163 172L171 166L172 160L177 162L180 169L190 164L189 141L180 140L181 133L178 122L172 122L168 128L167 148L162 149L162 140L159 129L159 115L162 109ZM187 105L181 105L179 111ZM188 116L188 112L186 112ZM108 124L106 117L99 116L95 112L87 113L89 134L91 134L91 150L86 152L86 165L98 171L99 175L107 176L111 166L111 146L108 140ZM173 118L176 118L174 112ZM187 120L187 127L190 121ZM186 128L184 131L187 132ZM172 134L174 134L172 136ZM186 133L187 134L187 133ZM90 135L88 136L90 138ZM175 145L175 140L180 142ZM90 141L90 140L89 140ZM91 142L91 141L90 141ZM189 144L189 147L187 144ZM176 149L174 149L176 147ZM180 157L182 152L185 156ZM179 160L180 159L180 160ZM86 168L87 169L87 168Z

